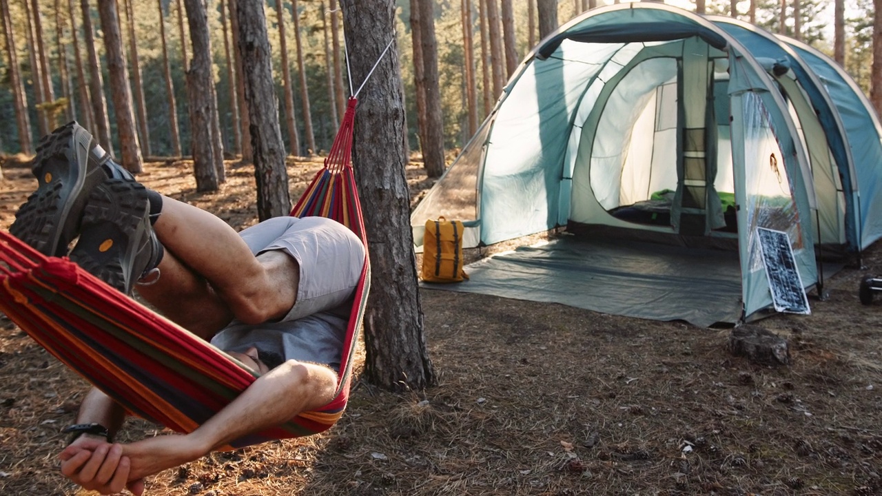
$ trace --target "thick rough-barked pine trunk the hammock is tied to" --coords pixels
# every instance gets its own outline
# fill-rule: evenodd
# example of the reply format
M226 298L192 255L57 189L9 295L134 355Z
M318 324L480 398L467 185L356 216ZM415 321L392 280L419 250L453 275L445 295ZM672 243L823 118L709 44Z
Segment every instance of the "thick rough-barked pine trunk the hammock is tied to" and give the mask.
M390 39L395 2L342 0L353 79L363 81ZM372 279L364 317L364 374L392 390L420 391L436 377L423 334L416 261L410 231L410 195L404 155L404 108L395 49L364 86L355 123L355 176L365 204ZM382 143L383 147L377 147Z

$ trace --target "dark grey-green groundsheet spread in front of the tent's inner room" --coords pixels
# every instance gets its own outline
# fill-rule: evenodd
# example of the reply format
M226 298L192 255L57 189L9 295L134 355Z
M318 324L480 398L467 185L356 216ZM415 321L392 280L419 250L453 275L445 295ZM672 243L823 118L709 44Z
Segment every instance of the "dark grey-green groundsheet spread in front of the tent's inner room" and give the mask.
M741 315L737 252L564 235L478 260L466 272L465 282L421 285L699 327Z

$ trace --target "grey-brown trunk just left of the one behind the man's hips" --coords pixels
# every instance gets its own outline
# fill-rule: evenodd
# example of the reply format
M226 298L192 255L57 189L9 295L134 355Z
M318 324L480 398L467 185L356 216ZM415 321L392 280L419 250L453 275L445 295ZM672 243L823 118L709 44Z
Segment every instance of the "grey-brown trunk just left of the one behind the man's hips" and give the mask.
M187 95L190 98L193 173L196 191L216 192L223 170L221 125L217 118L212 73L212 46L208 38L208 14L204 0L183 0L193 43L193 58L187 71ZM221 153L219 154L219 150Z

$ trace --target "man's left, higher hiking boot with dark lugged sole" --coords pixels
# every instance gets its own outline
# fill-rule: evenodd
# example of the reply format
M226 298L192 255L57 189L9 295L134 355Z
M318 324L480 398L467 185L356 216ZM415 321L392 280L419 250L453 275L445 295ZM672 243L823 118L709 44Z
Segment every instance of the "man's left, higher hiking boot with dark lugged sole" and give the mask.
M104 167L108 159L92 134L76 122L43 137L32 168L39 185L15 214L9 229L12 236L44 255L67 254L68 244L77 237L86 198L109 176Z

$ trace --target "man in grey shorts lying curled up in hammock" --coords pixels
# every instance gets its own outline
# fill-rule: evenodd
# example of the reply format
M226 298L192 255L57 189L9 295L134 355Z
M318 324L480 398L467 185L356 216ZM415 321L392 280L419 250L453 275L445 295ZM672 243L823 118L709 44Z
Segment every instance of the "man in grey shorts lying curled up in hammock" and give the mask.
M123 408L98 389L80 406L62 473L102 494L144 491L144 477L197 460L333 399L335 369L364 246L321 217L278 217L237 234L220 218L163 197L78 124L34 159L39 187L10 231L46 255L69 255L260 374L194 432L111 444ZM68 246L77 238L73 249Z

